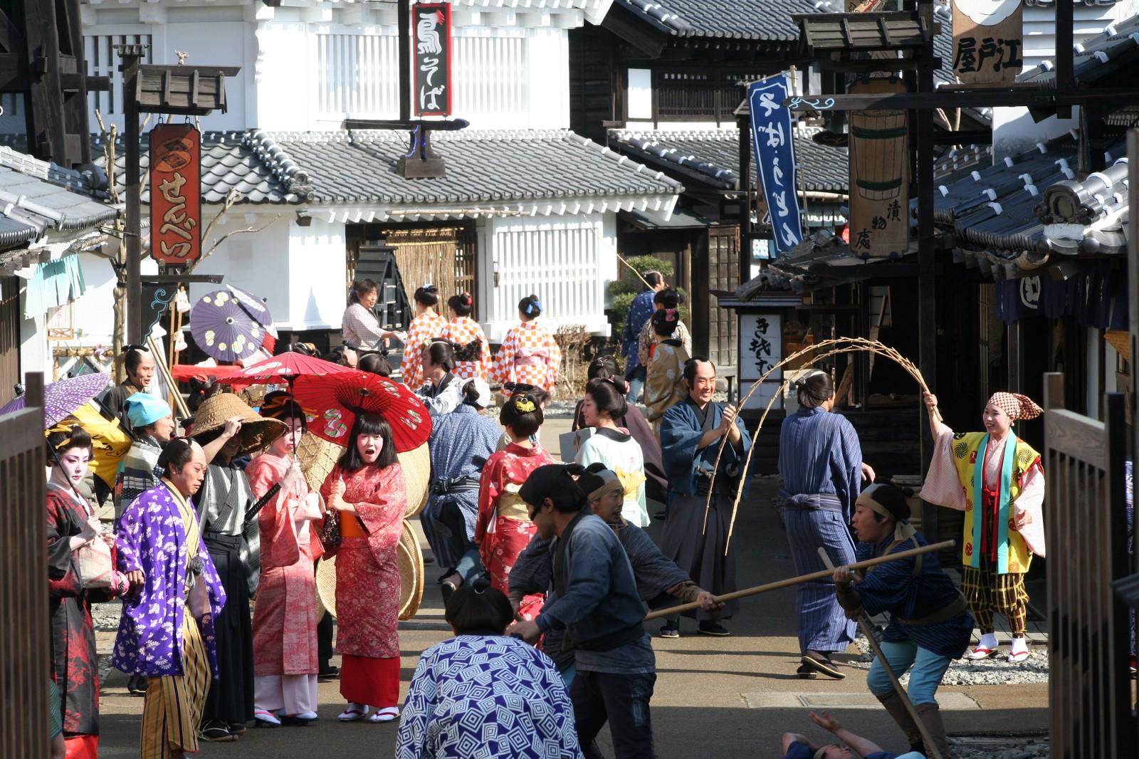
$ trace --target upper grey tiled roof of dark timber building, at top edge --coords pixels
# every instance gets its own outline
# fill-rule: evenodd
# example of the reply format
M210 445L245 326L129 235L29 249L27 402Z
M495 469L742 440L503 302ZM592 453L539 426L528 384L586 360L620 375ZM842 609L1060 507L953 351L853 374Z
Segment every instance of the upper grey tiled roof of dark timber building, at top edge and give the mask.
M614 0L672 36L793 42L793 14L836 13L828 0Z

